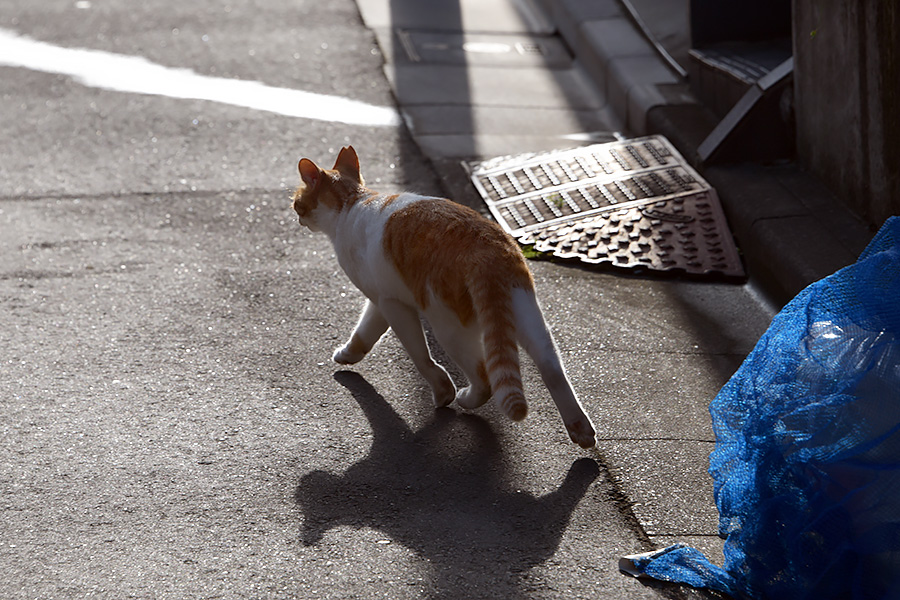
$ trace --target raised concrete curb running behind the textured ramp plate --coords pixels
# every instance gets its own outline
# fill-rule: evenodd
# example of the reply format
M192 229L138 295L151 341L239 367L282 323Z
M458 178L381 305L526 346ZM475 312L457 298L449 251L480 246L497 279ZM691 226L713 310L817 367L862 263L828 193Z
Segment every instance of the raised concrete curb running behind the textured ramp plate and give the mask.
M797 164L699 164L717 118L616 0L537 0L633 135L668 137L714 185L751 278L778 304L851 264L873 232Z

